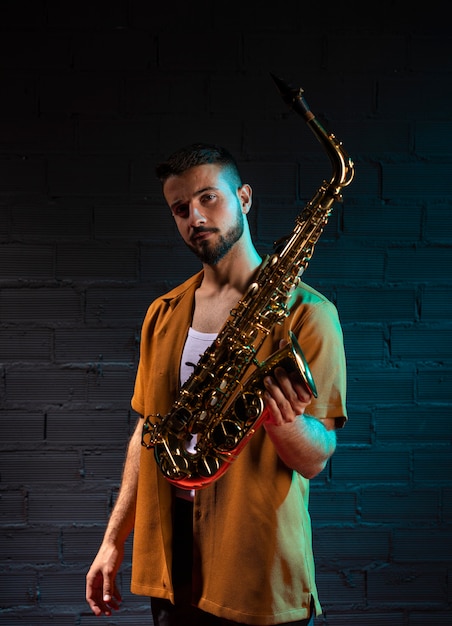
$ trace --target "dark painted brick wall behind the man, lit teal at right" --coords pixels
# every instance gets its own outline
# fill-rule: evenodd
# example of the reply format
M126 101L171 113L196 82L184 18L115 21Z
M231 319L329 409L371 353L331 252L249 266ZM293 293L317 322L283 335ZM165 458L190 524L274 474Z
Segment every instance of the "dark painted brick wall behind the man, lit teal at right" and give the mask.
M265 4L265 3L262 3ZM287 6L288 5L288 6ZM0 619L90 626L84 576L120 481L148 303L197 269L153 165L228 146L263 252L329 162L356 180L305 274L338 306L349 423L312 484L328 626L450 623L452 50L446 3L0 3ZM124 607L103 623L150 623Z

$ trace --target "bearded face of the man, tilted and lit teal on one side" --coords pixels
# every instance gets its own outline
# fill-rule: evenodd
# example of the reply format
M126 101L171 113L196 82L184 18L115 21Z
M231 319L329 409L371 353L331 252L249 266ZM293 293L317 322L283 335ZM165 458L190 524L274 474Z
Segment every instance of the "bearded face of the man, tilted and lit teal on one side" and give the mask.
M229 171L214 164L171 176L163 186L184 242L207 265L216 265L242 237L248 191L248 185L237 189Z

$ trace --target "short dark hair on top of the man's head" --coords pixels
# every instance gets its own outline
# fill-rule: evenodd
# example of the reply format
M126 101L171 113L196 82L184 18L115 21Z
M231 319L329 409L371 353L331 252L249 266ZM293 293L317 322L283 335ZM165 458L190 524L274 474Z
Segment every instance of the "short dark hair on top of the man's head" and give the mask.
M170 176L178 176L197 165L218 164L229 169L240 187L242 179L235 158L221 146L208 143L193 143L173 152L166 161L159 163L155 168L157 178L162 185Z

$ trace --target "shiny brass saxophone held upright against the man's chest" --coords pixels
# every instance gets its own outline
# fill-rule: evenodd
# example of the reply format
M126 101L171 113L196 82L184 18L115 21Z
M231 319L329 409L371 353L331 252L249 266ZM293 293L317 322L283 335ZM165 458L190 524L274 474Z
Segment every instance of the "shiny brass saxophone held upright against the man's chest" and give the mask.
M310 111L303 89L272 78L284 101L304 118L326 150L333 174L298 215L293 232L264 259L256 280L201 356L169 413L148 416L144 422L142 445L154 449L164 477L182 489L210 485L237 458L266 418L263 380L275 367L298 371L317 397L309 365L291 332L287 344L266 361L259 362L257 355L272 328L288 316L290 295L308 266L333 203L342 200L342 188L353 179L354 165Z

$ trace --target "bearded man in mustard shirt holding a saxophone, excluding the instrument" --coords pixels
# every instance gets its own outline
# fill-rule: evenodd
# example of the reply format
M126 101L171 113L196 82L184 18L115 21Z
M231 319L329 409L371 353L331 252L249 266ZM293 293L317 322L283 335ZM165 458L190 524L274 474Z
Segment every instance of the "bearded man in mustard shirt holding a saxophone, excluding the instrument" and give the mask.
M157 175L202 271L147 312L132 398L144 417L169 412L262 262L247 220L252 190L226 150L189 146L158 166ZM265 379L263 426L228 471L196 494L163 477L152 451L141 445L138 420L118 500L87 574L86 599L96 615L119 607L115 576L134 529L131 589L151 597L155 626L314 623L321 608L309 479L324 469L335 429L346 420L345 358L335 307L303 283L259 360L283 345L289 329L310 364L318 398L301 377L277 368Z

